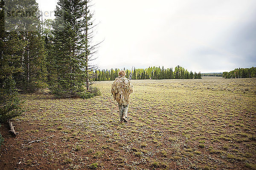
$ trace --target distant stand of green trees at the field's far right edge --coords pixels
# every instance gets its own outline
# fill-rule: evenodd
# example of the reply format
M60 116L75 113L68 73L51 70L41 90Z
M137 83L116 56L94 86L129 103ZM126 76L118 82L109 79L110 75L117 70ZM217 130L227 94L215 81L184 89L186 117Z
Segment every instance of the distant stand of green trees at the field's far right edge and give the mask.
M230 72L223 72L224 78L256 78L256 67L239 68Z

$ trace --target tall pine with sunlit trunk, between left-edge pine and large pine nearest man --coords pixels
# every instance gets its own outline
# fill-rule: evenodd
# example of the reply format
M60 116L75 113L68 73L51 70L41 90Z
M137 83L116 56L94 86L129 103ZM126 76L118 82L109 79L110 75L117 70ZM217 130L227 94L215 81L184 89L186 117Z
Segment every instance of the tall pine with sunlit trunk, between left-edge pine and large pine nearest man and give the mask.
M6 40L9 39L6 43L6 51L19 58L15 64L19 65L21 70L13 76L19 89L33 92L46 86L47 74L38 3L35 0L6 0L6 2L8 2L5 6L6 10L17 14L15 17L6 17L5 20ZM15 54L12 50L15 50Z

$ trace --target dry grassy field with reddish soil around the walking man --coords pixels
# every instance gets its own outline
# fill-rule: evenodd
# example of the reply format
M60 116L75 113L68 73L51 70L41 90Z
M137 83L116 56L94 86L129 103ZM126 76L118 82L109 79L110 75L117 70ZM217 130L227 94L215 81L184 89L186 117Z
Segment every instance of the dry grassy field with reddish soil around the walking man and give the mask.
M0 169L256 169L256 78L132 80L127 124L112 83L88 100L22 95Z

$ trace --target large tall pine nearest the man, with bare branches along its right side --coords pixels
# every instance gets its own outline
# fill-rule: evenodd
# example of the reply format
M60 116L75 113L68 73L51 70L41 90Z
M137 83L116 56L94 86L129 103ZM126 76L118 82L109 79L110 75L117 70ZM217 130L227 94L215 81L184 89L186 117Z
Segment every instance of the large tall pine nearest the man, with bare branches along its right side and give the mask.
M56 6L53 33L57 81L52 86L56 95L83 97L84 86L90 91L96 67L89 62L97 44L90 44L93 23L88 3L88 0L60 0Z

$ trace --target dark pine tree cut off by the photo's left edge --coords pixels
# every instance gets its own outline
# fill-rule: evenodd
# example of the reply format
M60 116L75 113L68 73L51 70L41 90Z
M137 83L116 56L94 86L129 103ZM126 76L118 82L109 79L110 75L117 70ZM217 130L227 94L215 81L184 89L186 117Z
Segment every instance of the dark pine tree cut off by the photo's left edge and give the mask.
M5 30L5 1L0 0L0 124L20 115L20 100L14 75L21 72L20 47L17 32ZM3 140L0 134L0 145Z

